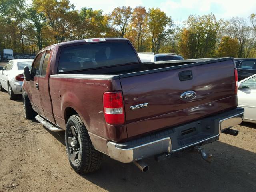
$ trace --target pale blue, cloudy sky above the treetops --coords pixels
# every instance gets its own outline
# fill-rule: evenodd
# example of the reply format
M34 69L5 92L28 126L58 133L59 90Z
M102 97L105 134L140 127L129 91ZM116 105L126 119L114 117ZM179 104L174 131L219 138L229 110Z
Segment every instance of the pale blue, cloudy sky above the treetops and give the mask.
M70 0L70 3L76 9L91 7L104 13L118 6L144 6L147 10L158 7L176 22L183 22L191 14L213 13L217 19L228 20L232 16L248 18L250 13L256 13L256 0Z

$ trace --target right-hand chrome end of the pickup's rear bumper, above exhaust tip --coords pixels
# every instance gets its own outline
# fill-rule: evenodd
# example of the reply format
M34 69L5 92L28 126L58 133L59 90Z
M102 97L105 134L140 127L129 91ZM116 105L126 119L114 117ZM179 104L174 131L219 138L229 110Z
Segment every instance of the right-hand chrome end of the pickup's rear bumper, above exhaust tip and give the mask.
M239 125L240 123L242 123L243 118L244 118L244 112L220 120L219 132L222 132L232 126Z

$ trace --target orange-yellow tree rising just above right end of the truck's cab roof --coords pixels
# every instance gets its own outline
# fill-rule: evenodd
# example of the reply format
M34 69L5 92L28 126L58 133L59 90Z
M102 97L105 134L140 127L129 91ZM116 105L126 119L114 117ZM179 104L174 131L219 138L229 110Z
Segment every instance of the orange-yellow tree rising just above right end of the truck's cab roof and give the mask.
M113 25L119 28L119 36L124 37L124 34L126 33L128 24L132 16L132 8L130 8L130 6L116 7L114 8L110 16Z

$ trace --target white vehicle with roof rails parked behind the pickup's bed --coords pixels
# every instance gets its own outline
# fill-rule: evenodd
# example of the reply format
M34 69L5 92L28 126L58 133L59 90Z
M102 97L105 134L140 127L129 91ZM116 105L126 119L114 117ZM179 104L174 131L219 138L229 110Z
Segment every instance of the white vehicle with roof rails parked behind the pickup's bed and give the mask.
M138 53L142 63L154 62L154 61L171 61L171 60L183 60L184 58L174 53Z

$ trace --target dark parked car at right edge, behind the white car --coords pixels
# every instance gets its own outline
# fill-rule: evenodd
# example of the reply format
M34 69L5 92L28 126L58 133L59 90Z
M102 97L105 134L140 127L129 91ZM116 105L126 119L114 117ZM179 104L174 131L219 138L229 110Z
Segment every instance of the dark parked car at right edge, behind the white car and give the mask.
M256 58L234 58L234 60L239 81L256 74Z

